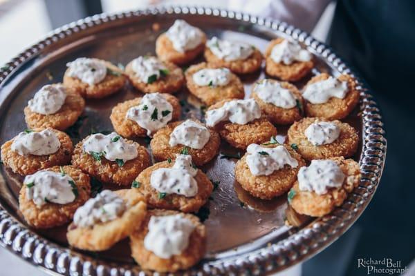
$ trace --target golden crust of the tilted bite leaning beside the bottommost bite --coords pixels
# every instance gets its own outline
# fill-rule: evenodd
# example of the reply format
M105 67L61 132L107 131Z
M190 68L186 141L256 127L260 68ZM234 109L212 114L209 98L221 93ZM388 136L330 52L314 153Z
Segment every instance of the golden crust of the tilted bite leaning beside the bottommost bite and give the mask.
M147 206L144 201L136 196L131 199L129 190L117 190L118 194L127 204L127 210L121 217L112 221L95 224L93 228L77 227L74 224L68 226L66 238L71 246L82 250L102 251L111 248L120 240L128 237L134 230L140 228L147 214Z

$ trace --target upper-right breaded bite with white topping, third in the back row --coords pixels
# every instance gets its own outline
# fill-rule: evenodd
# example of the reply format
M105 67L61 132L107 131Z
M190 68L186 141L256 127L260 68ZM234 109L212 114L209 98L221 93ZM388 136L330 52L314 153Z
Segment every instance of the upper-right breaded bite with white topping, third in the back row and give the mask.
M283 81L298 81L314 67L313 56L295 41L273 39L265 52L265 71Z

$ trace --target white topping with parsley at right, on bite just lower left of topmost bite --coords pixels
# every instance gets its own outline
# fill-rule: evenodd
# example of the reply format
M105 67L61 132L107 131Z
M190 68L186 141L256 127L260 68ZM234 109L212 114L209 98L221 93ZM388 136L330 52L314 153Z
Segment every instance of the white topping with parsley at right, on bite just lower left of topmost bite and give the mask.
M131 68L138 79L145 83L156 81L168 73L166 66L156 57L138 57L131 62Z

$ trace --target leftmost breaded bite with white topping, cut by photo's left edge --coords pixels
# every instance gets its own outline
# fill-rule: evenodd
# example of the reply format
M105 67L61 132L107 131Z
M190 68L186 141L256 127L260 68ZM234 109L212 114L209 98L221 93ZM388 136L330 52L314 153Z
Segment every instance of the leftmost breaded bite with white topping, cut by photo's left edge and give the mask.
M66 133L36 128L6 141L1 146L1 160L19 175L31 175L44 168L69 164L72 152L73 144Z

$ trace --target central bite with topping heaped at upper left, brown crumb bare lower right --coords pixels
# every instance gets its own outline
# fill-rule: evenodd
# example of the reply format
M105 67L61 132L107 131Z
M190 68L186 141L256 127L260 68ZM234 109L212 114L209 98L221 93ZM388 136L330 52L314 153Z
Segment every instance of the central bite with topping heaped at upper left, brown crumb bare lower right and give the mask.
M277 135L273 124L261 116L254 99L224 100L210 106L206 125L214 128L235 148L246 149L250 144L262 144Z

